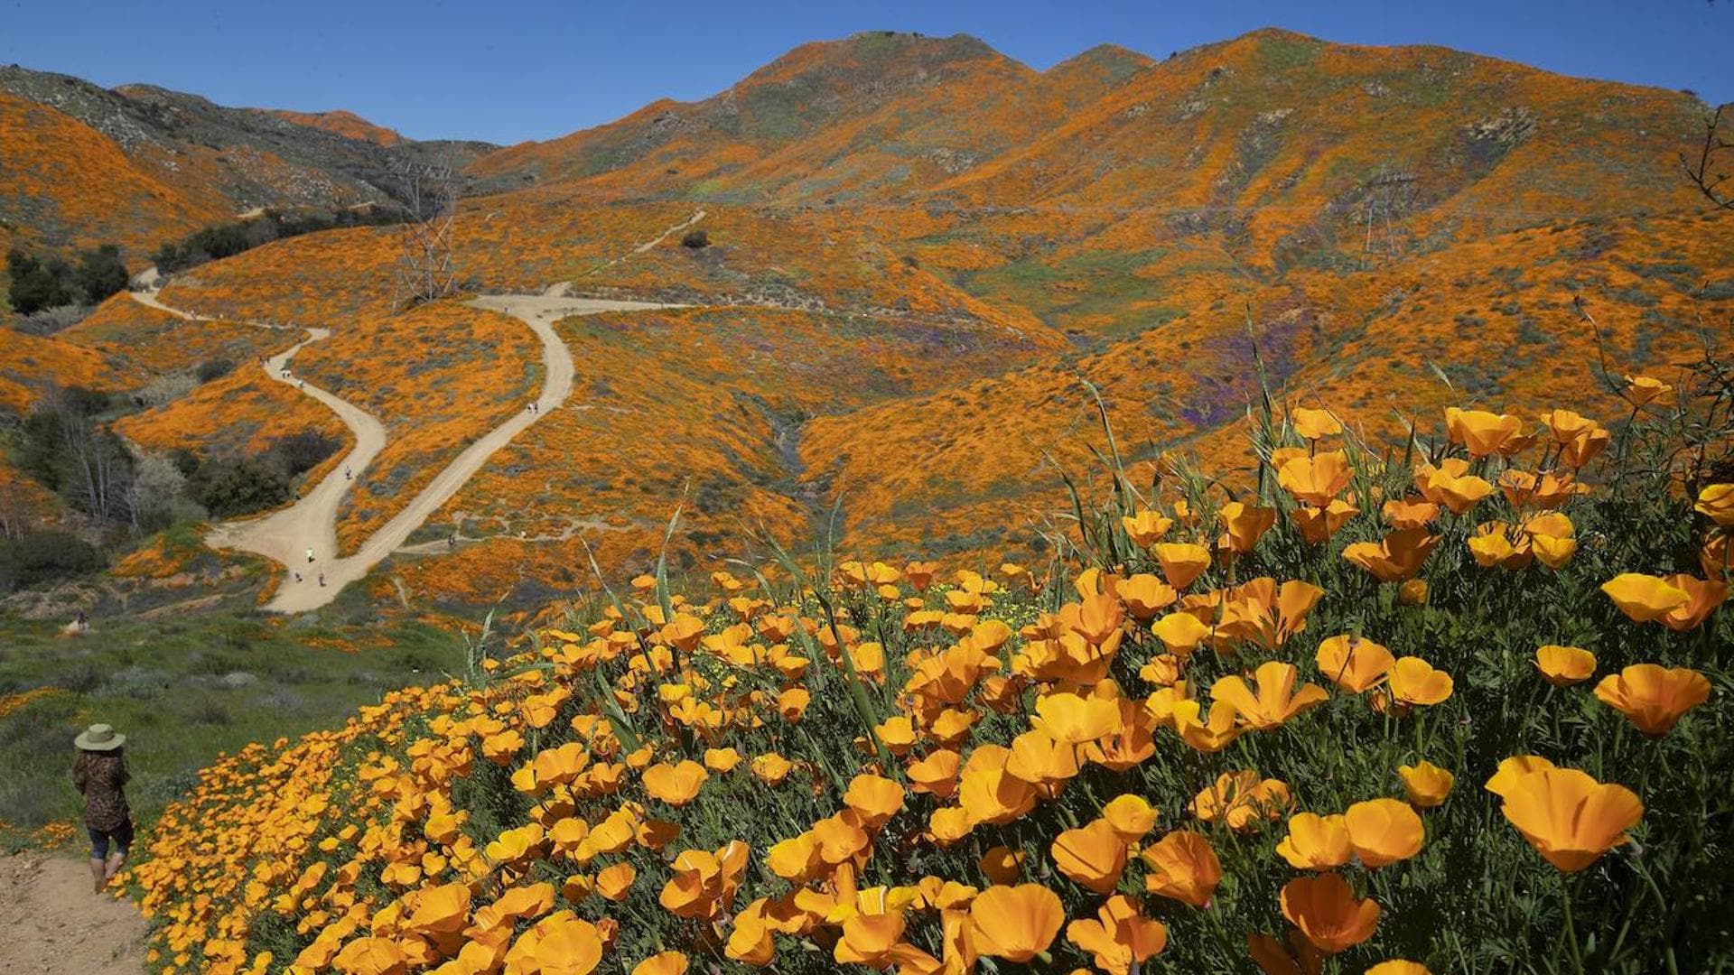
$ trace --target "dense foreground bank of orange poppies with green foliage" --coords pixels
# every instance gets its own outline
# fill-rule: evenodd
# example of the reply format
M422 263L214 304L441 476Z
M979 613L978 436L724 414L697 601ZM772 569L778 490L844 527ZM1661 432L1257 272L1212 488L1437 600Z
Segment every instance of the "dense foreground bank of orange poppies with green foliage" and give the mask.
M635 579L210 769L132 874L151 959L1734 965L1727 444L1654 385L1614 432L1451 409L1401 455L1297 408L1228 493L1110 458L1040 571Z

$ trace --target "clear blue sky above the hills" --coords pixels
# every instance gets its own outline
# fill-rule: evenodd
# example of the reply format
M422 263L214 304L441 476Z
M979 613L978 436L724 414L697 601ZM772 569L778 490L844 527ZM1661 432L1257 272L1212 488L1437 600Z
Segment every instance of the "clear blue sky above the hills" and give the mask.
M860 29L969 33L1047 68L1103 42L1164 57L1261 26L1734 101L1734 0L0 0L0 62L232 106L347 108L416 139L520 142L701 99Z

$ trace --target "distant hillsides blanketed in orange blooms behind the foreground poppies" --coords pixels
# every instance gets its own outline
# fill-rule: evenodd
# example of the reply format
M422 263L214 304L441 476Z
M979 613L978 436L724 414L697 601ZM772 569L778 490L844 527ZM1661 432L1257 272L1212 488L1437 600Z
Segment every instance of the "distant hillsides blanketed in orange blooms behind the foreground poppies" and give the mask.
M88 175L47 167L55 179L156 193L158 227L236 201L194 158L170 179L40 101L0 109L49 127L21 158L90 144ZM1677 163L1705 113L1689 94L1276 29L1160 61L1101 45L1047 71L962 35L872 31L803 45L711 99L472 146L454 226L466 293L692 307L560 323L565 408L418 536L461 545L390 559L369 592L529 605L591 585L591 552L647 569L676 505L678 564L818 533L994 560L1063 520L1063 474L1108 449L1099 411L1127 461L1200 455L1231 475L1257 467L1243 420L1264 387L1330 404L1375 444L1401 446L1446 402L1524 413L1569 394L1616 422L1604 375L1666 375L1731 333L1734 215ZM366 165L397 146L347 113L271 118ZM59 203L10 232L97 239L144 206L42 196L95 210ZM543 375L508 316L394 307L397 258L392 227L336 229L161 291L231 323L333 331L300 368L392 435L340 512L345 550ZM101 359L104 382L137 389L286 345L116 302L0 352L9 406L29 406L33 363L50 363L42 382L92 380ZM244 371L121 427L153 449L215 451L284 423L331 429L295 399Z

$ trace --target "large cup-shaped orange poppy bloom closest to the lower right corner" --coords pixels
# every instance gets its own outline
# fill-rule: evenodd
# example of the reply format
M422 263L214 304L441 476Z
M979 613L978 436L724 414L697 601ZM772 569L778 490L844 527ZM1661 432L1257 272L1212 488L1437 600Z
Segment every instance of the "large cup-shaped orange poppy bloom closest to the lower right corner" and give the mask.
M1547 862L1566 873L1594 864L1625 843L1644 803L1625 786L1602 784L1576 769L1542 769L1512 782L1500 807Z

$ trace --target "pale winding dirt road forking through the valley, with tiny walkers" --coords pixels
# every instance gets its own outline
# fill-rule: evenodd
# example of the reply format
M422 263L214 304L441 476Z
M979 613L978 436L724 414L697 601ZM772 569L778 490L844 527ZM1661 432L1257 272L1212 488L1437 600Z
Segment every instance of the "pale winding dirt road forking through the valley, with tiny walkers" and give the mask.
M144 305L184 319L227 321L194 316L165 305L154 291L134 291L132 297ZM283 566L283 583L265 609L276 612L307 612L335 600L343 592L343 586L366 576L387 555L402 546L434 512L451 500L487 463L487 458L494 451L512 442L513 437L531 423L541 420L550 409L557 409L565 402L565 397L572 392L572 354L558 333L555 333L555 321L581 314L681 307L650 302L567 298L546 293L484 295L468 304L510 314L527 324L536 333L536 338L541 340L543 390L536 399L536 409L515 413L510 420L465 448L392 520L368 536L352 555L335 557L338 510L342 508L343 496L355 484L352 479L359 479L380 451L385 449L388 442L387 429L366 409L303 380L283 376L295 354L309 342L328 338L331 335L329 330L305 330L309 335L305 340L272 356L265 363L267 376L274 382L295 385L300 392L326 404L355 435L355 446L331 467L331 474L314 486L312 491L303 493L297 503L258 519L220 524L205 536L205 543L212 548L255 552ZM288 330L288 326L257 321L241 321L238 324ZM345 470L349 477L345 477ZM312 562L307 560L309 548L314 552ZM321 573L324 574L324 585L319 585ZM300 574L300 579L297 579L297 574Z

